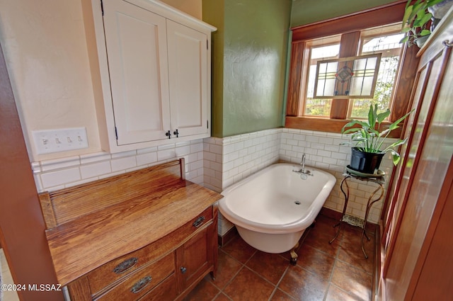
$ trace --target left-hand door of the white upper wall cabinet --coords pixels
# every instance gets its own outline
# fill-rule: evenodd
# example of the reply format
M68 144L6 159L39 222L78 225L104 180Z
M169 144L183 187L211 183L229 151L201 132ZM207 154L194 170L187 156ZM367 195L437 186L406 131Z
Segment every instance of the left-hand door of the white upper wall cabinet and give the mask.
M117 145L166 139L171 129L166 18L103 1Z

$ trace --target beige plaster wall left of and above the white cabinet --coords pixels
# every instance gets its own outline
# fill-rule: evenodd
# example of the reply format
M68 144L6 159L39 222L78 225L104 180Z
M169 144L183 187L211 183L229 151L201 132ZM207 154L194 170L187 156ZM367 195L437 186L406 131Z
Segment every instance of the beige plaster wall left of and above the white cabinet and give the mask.
M30 161L101 151L81 1L0 0L0 43ZM164 2L201 18L201 0ZM33 130L65 127L86 127L89 148L36 154Z

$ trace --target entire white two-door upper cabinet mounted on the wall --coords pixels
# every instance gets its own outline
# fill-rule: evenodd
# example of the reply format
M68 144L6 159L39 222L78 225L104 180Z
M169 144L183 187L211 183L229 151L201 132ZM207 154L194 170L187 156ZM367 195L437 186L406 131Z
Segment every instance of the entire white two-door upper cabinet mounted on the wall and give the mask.
M92 0L103 149L210 136L214 27L152 0Z

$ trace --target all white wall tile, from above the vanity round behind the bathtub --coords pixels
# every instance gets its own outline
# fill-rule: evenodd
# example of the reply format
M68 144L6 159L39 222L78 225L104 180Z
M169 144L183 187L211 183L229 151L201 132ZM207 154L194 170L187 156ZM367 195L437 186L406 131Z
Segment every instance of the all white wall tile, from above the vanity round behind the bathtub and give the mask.
M336 133L315 132L277 128L251 132L243 135L166 144L130 152L67 157L64 159L33 162L33 172L39 192L55 191L80 183L95 181L115 174L185 158L186 178L213 191L222 192L242 178L279 160L299 164L306 154L306 166L329 171L337 183L324 204L341 212L344 197L340 191L345 166L349 164L350 147L341 145L349 137ZM390 178L392 163L390 155L384 157L381 168ZM366 181L350 181L348 213L365 216L370 193L375 184ZM384 191L385 196L385 191ZM383 200L375 203L369 212L369 222L377 223ZM219 234L225 234L231 222L219 214Z

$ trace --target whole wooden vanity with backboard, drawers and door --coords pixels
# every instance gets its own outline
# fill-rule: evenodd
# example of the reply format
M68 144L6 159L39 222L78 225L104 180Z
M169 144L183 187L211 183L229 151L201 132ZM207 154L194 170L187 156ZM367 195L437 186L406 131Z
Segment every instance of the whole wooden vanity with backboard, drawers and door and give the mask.
M181 300L217 268L222 195L179 159L41 193L57 279L71 300Z

